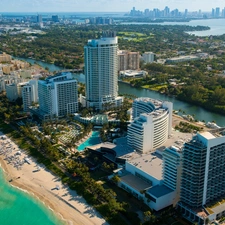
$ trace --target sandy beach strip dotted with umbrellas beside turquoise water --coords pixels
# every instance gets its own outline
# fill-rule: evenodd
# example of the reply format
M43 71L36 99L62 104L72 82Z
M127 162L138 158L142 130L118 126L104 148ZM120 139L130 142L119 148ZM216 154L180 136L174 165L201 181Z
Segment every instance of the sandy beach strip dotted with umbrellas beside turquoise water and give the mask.
M1 135L0 133L0 164L6 179L12 179L10 184L39 198L56 215L63 218L66 224L108 225L81 196L63 185L60 179L43 165L38 165L31 157L28 158L23 150L18 152L17 145L10 139L2 140ZM24 158L27 162L24 162Z

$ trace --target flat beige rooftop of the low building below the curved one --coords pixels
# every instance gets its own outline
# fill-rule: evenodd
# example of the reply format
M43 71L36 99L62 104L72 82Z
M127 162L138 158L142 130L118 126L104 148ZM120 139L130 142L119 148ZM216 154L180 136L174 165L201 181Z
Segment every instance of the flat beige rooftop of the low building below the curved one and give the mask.
M162 180L162 156L153 152L150 154L137 154L131 153L131 157L127 159L128 163L134 165L140 170L144 171L147 174L150 174L152 177Z

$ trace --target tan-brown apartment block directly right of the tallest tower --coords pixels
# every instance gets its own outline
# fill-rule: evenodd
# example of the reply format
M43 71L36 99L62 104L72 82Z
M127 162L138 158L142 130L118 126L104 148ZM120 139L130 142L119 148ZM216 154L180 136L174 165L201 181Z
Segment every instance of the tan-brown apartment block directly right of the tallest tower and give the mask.
M139 52L127 50L118 51L118 71L138 70L140 64Z

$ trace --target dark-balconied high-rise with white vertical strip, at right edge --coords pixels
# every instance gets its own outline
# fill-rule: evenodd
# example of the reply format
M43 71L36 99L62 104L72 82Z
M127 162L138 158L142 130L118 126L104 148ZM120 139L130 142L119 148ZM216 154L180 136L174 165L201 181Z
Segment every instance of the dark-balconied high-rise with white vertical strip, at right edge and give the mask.
M182 150L181 195L184 217L204 224L225 214L225 129L198 133ZM217 202L221 202L216 204Z

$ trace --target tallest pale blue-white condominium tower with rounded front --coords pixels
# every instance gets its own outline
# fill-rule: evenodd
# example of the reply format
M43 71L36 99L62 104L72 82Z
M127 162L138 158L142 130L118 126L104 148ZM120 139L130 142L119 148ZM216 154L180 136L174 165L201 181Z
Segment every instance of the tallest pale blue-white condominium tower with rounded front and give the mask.
M120 105L118 97L118 41L115 32L89 40L84 47L86 105L103 109Z

